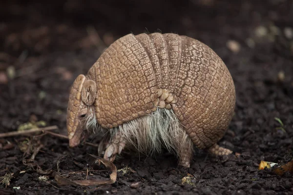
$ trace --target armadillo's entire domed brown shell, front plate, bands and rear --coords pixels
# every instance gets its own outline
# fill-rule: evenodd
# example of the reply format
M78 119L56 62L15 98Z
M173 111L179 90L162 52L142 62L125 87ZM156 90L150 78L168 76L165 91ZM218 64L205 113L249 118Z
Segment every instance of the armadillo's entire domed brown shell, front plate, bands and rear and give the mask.
M177 102L174 113L199 148L221 138L235 106L224 62L202 42L175 34L126 35L112 43L88 72L97 83L96 117L111 128L149 114L158 89Z

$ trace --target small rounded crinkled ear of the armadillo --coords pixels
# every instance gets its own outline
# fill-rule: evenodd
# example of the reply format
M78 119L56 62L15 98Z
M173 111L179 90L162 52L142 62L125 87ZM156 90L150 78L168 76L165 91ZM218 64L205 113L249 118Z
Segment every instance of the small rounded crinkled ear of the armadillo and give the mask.
M82 100L85 105L90 106L94 103L97 93L97 86L93 80L85 80L82 88Z

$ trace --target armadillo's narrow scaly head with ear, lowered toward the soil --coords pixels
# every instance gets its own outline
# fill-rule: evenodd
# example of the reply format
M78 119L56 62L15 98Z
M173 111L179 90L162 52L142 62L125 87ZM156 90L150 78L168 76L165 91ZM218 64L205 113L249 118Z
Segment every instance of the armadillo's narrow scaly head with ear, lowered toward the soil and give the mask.
M97 87L93 80L79 75L73 82L67 107L67 132L69 146L78 146L85 139L86 122L94 117L93 103Z

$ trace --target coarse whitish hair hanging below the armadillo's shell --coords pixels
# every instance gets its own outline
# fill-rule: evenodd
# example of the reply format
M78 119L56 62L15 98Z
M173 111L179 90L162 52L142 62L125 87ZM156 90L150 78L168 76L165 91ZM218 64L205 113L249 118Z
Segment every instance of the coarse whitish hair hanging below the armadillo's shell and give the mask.
M87 118L85 125L88 130L93 130L94 133L104 137L102 140L104 147L111 142L111 138L117 132L120 132L125 138L126 147L135 147L138 152L146 156L161 153L163 148L177 157L182 157L181 155L186 152L193 152L192 140L172 109L157 108L148 115L110 129L98 125L95 115L92 115ZM101 149L105 150L99 148L99 151Z

